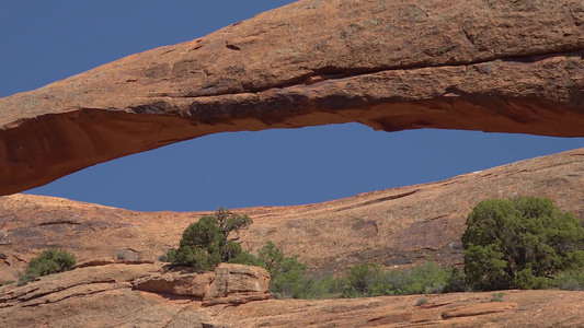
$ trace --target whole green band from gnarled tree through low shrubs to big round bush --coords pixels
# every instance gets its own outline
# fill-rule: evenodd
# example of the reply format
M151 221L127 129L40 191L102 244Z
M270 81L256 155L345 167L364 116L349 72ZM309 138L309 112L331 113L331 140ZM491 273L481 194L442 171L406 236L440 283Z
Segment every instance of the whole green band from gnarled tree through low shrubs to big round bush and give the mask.
M183 232L180 247L170 249L165 259L197 272L214 270L219 262L263 267L271 274L270 292L274 298L365 297L509 288L584 290L584 229L577 219L559 210L547 198L517 197L480 202L469 214L462 235L465 270L444 269L426 262L410 270L383 271L378 263L359 263L339 277L309 278L307 265L300 262L298 256L286 256L271 241L256 255L243 251L237 242L239 237L232 235L251 223L248 215L219 209L214 215L191 224ZM419 302L424 302L423 298ZM495 293L491 301L502 300L503 293Z

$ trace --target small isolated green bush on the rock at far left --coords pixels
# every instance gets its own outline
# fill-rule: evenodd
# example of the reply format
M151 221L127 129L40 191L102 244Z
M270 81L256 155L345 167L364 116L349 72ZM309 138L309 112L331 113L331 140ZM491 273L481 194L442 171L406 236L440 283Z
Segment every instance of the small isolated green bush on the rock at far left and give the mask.
M56 248L43 250L38 257L31 259L26 266L26 270L19 278L19 285L26 284L28 281L42 276L71 270L75 262L75 255L66 250L58 250Z

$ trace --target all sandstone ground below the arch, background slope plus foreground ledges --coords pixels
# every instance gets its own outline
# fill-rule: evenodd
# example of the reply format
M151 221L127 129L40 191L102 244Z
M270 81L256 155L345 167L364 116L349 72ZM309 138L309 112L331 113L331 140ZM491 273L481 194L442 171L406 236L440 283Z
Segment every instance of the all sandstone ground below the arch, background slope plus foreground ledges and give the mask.
M580 149L323 203L236 211L254 219L241 233L245 248L254 250L272 239L287 254L299 255L313 274L339 272L365 261L381 262L387 269L428 259L457 265L461 262L459 238L465 218L478 201L515 195L547 196L584 221L583 185L584 149ZM15 280L26 261L49 246L67 248L84 262L73 271L41 278L25 286L0 288L0 326L584 325L584 294L565 291L507 291L503 303L489 302L492 293L430 295L422 306L414 305L420 295L270 300L239 306L205 304L201 293L184 295L190 290L185 288L186 278L171 274L169 279L160 271L161 263L154 262L165 249L176 246L187 224L204 214L131 212L27 195L0 198L0 281ZM116 257L125 259L116 261ZM168 281L174 281L170 288ZM226 295L217 292L221 293Z

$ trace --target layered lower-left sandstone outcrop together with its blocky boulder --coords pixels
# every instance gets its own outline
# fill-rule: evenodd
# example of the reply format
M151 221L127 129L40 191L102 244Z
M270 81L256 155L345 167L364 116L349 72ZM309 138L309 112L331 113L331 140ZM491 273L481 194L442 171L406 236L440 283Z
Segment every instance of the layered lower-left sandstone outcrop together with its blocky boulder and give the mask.
M262 268L224 263L204 274L163 271L160 262L96 265L0 286L0 326L215 327L201 306L270 298L270 276Z

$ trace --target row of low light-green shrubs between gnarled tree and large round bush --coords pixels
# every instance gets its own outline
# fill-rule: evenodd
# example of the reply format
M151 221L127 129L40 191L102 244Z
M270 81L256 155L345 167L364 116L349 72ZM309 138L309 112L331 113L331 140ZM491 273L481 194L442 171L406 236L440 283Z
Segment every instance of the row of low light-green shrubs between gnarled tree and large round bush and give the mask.
M283 298L353 298L468 291L461 270L445 270L434 262L389 272L383 272L378 263L359 263L339 278L328 274L308 279L306 265L298 262L296 257L287 258L273 243L268 242L260 254L259 258L253 257L254 265L260 263L273 274L270 291Z

